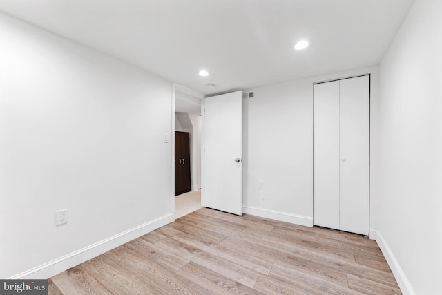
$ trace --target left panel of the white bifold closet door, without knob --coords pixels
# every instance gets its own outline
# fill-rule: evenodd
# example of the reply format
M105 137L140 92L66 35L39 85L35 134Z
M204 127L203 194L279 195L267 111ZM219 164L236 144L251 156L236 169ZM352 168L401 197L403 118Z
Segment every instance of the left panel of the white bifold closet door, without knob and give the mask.
M339 229L339 81L314 85L314 225Z

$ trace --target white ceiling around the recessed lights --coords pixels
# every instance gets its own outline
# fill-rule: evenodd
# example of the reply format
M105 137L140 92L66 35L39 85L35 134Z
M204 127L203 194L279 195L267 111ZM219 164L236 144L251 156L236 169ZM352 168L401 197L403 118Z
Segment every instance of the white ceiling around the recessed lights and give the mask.
M0 10L211 95L375 66L413 1L0 0ZM309 48L293 50L302 38Z

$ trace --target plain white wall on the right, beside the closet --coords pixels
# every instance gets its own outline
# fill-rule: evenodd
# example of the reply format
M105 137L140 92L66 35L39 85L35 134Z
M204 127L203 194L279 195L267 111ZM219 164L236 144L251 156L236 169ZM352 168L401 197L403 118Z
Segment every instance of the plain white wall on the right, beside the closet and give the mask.
M416 0L380 77L378 243L404 294L440 294L442 1Z

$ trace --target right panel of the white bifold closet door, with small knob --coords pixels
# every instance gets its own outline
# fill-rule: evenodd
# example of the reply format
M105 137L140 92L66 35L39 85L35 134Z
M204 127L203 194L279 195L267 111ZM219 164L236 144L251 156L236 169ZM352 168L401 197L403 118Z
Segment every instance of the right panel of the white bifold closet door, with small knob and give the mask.
M340 229L369 234L369 76L340 80Z

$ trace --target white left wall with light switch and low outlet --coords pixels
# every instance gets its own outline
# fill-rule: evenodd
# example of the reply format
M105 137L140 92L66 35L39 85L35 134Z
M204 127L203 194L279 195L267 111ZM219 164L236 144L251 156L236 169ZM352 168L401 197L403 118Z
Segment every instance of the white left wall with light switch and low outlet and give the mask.
M3 14L0 44L0 278L173 221L171 83Z

